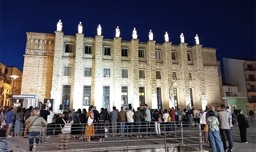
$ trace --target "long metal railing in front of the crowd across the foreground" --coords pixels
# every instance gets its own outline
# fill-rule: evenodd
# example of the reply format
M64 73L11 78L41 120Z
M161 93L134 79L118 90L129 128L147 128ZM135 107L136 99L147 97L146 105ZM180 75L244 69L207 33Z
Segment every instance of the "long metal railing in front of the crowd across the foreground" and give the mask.
M197 128L189 128L192 125L189 122L173 123L174 124L170 124L170 122L161 123L159 125L160 132L158 132L158 124L155 124L155 122L142 122L141 125L137 125L136 122L128 125L126 122L124 126L119 122L93 123L94 135L88 133L92 131L90 127L88 127L88 124L72 124L71 133L66 134L68 136L68 150L91 151L98 149L98 151L103 151L118 148L119 150L128 151L132 149L162 147L165 151L168 151L168 148L176 148L178 146L192 146L194 148L196 147L197 150L202 150L202 130L200 130L200 124L198 124L199 127ZM124 132L122 131L123 127ZM14 126L12 128L14 128ZM23 125L23 128L26 128L26 126ZM1 137L0 140L1 142L6 142L8 149L18 147L21 151L26 151L29 149L29 146L33 146L29 145L27 138L39 138L40 142L36 151L40 152L58 150L60 147L58 148L57 145L59 144L63 146L63 142L60 141L61 134L58 134L61 133L60 124L48 124L47 127L42 125L40 128L39 136L28 137L28 132L23 129L18 137ZM115 128L116 132L112 132ZM158 131L156 131L157 129ZM12 129L11 131L13 134L14 130ZM86 136L91 136L92 142L88 142ZM108 137L106 138L106 136ZM98 142L98 138L105 140ZM44 140L49 140L49 143L44 142ZM95 145L95 143L100 144Z

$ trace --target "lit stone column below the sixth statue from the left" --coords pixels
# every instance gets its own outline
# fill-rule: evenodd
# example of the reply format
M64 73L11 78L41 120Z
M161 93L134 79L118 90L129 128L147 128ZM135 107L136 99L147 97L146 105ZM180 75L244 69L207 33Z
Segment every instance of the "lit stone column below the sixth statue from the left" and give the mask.
M146 82L147 82L147 92L146 96L148 98L148 106L153 109L157 109L157 96L156 96L156 50L155 50L154 40L149 40L147 42L147 62L148 66L146 68Z

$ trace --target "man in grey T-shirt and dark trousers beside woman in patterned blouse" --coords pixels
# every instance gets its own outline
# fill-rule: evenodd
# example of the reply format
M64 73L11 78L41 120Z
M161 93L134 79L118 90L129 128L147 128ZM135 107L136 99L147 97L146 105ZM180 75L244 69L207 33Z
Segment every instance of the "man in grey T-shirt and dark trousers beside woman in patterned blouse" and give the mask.
M230 118L229 113L225 111L226 106L224 104L220 105L220 112L217 114L217 118L220 122L220 135L222 138L224 150L227 151L227 144L226 144L226 136L228 138L228 146L229 146L229 152L233 152L232 146L232 135L230 131L230 126L232 124L232 117Z

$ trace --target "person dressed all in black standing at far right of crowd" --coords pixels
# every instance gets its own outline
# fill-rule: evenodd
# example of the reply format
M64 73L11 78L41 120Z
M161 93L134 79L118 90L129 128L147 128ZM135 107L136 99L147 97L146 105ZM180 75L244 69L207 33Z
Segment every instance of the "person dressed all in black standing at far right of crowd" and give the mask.
M240 131L241 142L247 144L248 142L246 139L246 128L249 128L249 123L248 120L243 115L243 111L241 109L238 110L237 121Z

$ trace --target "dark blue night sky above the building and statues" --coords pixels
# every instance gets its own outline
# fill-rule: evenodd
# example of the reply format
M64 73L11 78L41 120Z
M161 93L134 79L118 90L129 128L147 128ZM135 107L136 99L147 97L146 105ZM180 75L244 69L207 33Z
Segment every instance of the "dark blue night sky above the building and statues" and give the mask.
M122 40L132 39L136 27L140 42L152 29L156 43L195 45L198 34L203 47L216 48L217 60L256 58L255 0L1 0L0 62L22 71L26 32L54 33L59 19L65 35L75 35L79 22L86 37L95 37L98 24L104 38L113 39L119 26Z

